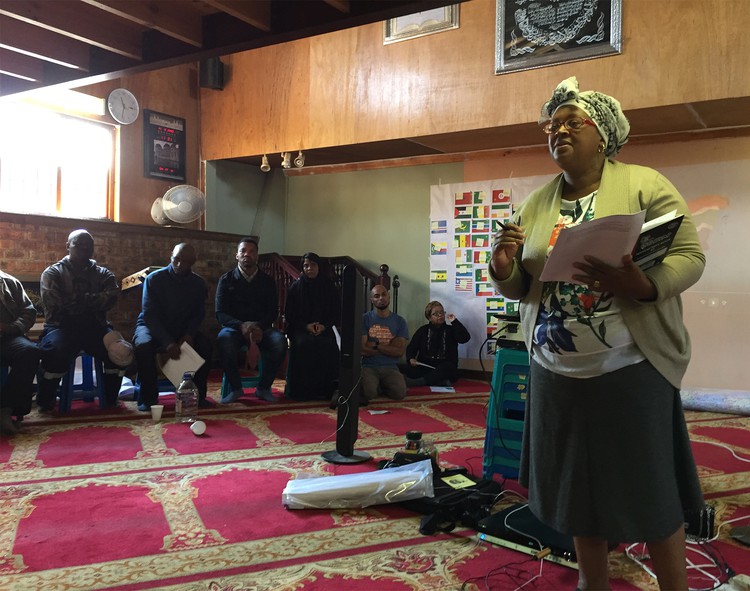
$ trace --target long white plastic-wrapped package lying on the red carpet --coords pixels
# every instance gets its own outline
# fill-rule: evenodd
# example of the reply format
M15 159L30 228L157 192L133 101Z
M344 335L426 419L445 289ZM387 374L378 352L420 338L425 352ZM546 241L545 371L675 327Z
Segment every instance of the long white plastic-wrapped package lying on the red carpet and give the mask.
M281 493L288 509L348 509L434 497L432 462L375 472L290 480Z

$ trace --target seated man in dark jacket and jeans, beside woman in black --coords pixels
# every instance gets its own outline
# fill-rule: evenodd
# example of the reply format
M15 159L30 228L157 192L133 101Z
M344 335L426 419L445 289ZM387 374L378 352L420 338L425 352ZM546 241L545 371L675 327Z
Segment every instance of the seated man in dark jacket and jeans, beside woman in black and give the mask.
M272 327L279 308L276 284L258 268L258 243L243 238L237 246L237 266L219 279L216 287L216 319L222 326L216 339L230 392L222 404L239 399L242 380L238 359L243 346L257 344L263 371L255 395L266 402L278 402L271 386L286 355L286 337Z

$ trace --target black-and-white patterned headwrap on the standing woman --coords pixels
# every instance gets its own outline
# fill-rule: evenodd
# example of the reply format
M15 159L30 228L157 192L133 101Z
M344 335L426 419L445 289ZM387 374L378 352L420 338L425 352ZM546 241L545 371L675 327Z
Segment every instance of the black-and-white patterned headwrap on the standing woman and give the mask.
M604 153L615 156L627 143L630 123L622 112L620 101L601 92L578 91L578 80L571 76L557 85L552 98L542 106L540 121L548 121L563 105L575 105L596 123L604 139Z

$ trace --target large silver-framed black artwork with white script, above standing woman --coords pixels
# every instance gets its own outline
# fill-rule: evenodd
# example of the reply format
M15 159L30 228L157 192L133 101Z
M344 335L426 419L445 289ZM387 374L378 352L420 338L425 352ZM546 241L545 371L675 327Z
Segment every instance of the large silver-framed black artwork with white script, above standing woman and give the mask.
M619 54L622 0L496 0L495 74Z

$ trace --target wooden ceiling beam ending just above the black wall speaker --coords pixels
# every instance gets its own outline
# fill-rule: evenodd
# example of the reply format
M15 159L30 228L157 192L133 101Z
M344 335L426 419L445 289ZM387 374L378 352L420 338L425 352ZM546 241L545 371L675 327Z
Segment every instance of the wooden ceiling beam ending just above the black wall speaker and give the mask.
M177 2L123 2L122 0L81 0L130 22L155 29L192 45L203 46L202 17Z

